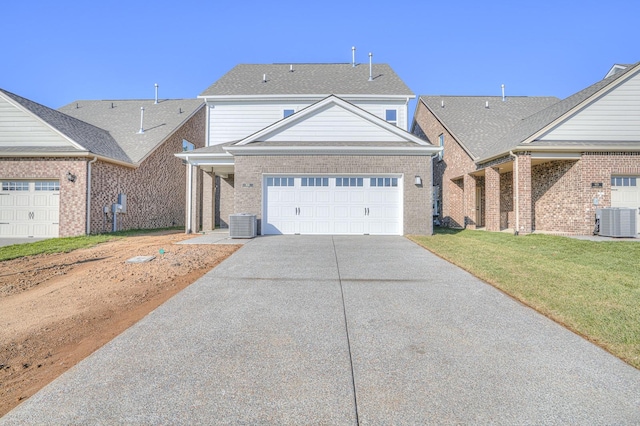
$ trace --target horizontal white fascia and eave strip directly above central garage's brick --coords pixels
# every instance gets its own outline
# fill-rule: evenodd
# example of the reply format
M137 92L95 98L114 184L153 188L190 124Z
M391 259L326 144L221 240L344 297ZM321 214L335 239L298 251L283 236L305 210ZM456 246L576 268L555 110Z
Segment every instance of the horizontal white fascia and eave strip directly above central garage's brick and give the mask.
M442 149L429 146L229 146L224 150L233 155L411 155L434 156Z

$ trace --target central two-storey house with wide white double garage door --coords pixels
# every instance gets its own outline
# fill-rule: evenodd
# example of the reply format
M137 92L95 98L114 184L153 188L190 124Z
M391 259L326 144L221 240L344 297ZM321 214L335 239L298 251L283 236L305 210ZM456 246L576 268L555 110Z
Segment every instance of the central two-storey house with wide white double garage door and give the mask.
M206 89L187 231L256 214L261 234L430 234L431 156L415 95L384 64L244 64ZM202 205L198 200L202 200Z

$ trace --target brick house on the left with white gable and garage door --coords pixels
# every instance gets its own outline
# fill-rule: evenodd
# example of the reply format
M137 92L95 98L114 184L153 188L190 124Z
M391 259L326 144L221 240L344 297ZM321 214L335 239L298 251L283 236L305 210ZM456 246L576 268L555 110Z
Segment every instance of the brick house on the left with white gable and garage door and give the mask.
M184 224L186 167L174 154L204 146L203 105L77 101L56 111L0 90L0 235L108 232L119 200L118 230Z

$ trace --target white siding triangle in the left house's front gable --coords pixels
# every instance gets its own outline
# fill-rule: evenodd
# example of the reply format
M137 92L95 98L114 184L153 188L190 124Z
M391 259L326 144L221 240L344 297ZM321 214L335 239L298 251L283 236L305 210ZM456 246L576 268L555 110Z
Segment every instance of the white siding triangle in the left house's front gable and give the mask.
M0 147L73 146L31 114L9 103L0 95Z

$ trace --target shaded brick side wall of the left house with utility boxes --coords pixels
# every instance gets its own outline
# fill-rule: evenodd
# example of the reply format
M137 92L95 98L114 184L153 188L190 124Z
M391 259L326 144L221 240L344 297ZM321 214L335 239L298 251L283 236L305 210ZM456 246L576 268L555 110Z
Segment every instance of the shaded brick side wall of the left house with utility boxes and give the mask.
M105 161L92 165L91 233L110 232L111 205L118 194L127 195L127 213L118 216L118 230L184 226L186 219L186 166L174 154L182 152L182 140L204 146L205 109L201 108L139 167ZM197 175L197 173L194 173ZM196 224L200 201L195 205ZM103 213L103 207L109 213Z

